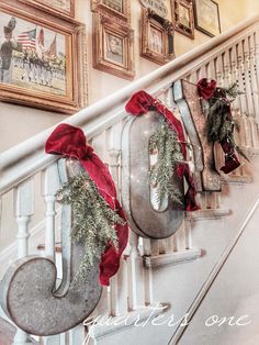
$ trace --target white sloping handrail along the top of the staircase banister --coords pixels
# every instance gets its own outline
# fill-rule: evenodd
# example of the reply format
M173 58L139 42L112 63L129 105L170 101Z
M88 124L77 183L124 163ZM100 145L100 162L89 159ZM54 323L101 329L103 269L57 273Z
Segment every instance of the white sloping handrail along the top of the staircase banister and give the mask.
M202 67L205 62L210 63L214 56L218 56L218 49L225 52L233 46L238 37L243 40L248 34L256 33L258 21L259 18L255 16L224 32L210 42L81 110L66 119L66 122L85 127L87 136L89 138L93 137L125 116L123 105L135 91L147 89L149 93L156 96L162 88L169 87L173 80L181 78L183 75L189 75L194 66ZM258 54L258 43L256 43L256 52ZM57 159L57 157L44 154L45 141L53 129L48 129L0 155L0 170L2 171L0 192L8 191L13 185L44 169Z

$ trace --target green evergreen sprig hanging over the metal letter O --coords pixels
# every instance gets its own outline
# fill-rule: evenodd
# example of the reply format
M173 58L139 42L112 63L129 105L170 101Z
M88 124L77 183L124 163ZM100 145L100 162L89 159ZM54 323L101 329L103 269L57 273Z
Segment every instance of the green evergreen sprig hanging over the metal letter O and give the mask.
M149 154L158 153L157 163L150 167L149 183L158 188L159 205L166 196L177 203L182 203L182 196L173 182L177 165L183 163L181 146L177 133L164 121L161 126L150 136Z

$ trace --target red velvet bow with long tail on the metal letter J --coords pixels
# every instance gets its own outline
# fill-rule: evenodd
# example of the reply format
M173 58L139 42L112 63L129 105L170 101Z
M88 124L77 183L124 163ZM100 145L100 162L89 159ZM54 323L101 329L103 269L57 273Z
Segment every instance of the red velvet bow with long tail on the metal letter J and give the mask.
M80 129L70 124L59 124L46 141L45 151L47 154L72 157L80 162L90 178L93 180L100 194L106 200L112 210L125 220L125 225L116 224L119 249L112 243L108 243L106 249L101 257L99 265L99 280L103 286L109 286L109 279L114 276L120 267L120 258L127 244L128 226L122 207L116 198L116 189L112 177L94 154L93 148L87 144L86 136Z

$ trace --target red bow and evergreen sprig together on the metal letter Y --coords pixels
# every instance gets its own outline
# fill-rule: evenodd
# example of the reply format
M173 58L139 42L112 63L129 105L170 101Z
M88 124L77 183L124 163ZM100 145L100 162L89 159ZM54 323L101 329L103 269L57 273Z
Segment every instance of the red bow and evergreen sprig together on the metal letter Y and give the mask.
M221 170L229 174L240 166L235 151L248 160L234 138L234 130L239 131L239 125L233 119L230 103L240 92L236 84L229 88L218 88L215 80L209 81L206 78L198 82L198 92L207 105L207 140L211 143L218 142L221 144L225 153L225 166Z

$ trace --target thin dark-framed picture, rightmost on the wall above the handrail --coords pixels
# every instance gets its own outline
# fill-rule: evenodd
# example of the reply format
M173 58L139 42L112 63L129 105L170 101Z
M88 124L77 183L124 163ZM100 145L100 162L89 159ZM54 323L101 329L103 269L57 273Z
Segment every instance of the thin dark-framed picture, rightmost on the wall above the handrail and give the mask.
M195 27L213 37L221 33L218 3L213 0L193 0Z

